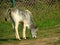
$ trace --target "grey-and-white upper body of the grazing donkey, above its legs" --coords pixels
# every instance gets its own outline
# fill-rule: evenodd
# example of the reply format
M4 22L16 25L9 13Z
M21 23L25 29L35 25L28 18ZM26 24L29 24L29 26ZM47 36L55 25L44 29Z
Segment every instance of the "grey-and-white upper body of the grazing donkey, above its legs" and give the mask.
M29 10L11 9L11 17L15 22L30 21L31 12Z

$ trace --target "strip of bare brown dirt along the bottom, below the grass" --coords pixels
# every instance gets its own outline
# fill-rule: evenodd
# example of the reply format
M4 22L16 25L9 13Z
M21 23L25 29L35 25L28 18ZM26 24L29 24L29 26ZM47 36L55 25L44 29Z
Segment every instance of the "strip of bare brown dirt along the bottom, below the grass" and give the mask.
M0 45L60 45L57 41L59 37L40 38L32 40L21 40L18 42L4 42Z

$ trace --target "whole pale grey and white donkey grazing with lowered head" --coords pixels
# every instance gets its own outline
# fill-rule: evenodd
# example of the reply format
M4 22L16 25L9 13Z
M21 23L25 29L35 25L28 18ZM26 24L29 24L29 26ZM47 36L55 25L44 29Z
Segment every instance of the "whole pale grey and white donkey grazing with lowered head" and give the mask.
M12 25L15 30L16 39L20 40L19 34L18 34L18 25L19 22L23 22L23 38L26 39L26 27L31 30L31 34L33 38L36 38L36 32L37 27L32 22L32 13L29 10L19 10L16 8L8 9L7 12L9 12L9 16L12 20ZM7 15L8 16L8 15ZM8 17L7 17L8 18ZM5 20L7 20L5 18Z

